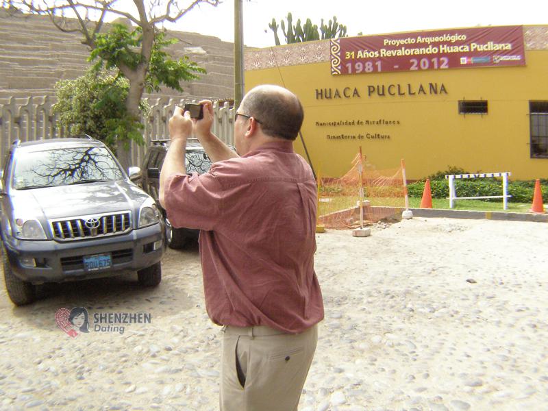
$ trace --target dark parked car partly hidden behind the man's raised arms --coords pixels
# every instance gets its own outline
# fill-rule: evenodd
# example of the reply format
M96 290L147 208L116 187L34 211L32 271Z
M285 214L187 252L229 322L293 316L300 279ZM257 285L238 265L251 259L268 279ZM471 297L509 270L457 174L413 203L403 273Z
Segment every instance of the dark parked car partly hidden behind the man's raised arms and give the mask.
M199 231L189 228L173 228L166 218L166 212L158 202L158 189L160 187L160 170L164 164L169 140L152 140L145 158L142 162L140 186L151 195L160 208L166 223L166 242L170 248L180 249L189 242L198 239ZM211 160L206 151L195 139L190 139L186 145L186 172L188 174L203 174L209 171Z

